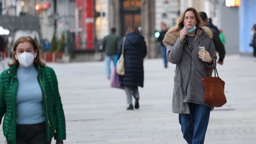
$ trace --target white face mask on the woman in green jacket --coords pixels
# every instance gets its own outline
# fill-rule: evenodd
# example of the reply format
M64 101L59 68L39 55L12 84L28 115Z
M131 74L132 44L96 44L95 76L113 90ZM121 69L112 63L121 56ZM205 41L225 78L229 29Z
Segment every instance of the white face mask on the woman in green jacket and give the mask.
M36 53L32 54L29 52L23 52L18 56L15 55L15 58L19 61L20 65L23 67L29 67L33 64L34 59L36 58Z

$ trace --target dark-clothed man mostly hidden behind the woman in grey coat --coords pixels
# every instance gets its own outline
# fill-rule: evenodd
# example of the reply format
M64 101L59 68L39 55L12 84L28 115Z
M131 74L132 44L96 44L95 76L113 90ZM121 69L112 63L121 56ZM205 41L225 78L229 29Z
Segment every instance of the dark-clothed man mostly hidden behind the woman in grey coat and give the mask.
M207 14L205 12L199 12L199 15L200 15L201 19L204 21L204 26L207 26L208 25ZM223 65L223 60L224 60L225 54L226 54L225 46L222 44L217 31L212 28L211 28L211 30L212 30L212 34L213 34L212 41L215 46L215 51L217 51L219 53L218 63L220 65Z

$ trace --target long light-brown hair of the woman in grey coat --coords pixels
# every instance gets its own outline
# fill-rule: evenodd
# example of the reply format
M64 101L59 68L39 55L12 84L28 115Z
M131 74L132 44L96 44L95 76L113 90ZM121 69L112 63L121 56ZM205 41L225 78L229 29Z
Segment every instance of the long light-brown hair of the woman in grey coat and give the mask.
M199 29L202 29L202 27L204 26L204 22L203 20L200 18L198 12L196 11L196 9L194 9L193 7L188 7L185 11L182 12L181 16L180 16L180 19L178 20L178 23L170 28L166 35L173 32L173 31L179 31L181 28L184 27L184 24L183 24L183 21L185 19L185 14L187 11L191 11L195 14L195 17L196 17L196 27L199 28Z

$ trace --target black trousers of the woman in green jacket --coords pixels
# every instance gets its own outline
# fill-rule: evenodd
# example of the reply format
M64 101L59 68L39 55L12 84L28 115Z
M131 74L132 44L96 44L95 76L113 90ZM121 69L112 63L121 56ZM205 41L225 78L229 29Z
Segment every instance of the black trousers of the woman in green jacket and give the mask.
M17 144L51 144L46 141L45 122L38 124L17 124ZM12 144L7 140L7 144Z

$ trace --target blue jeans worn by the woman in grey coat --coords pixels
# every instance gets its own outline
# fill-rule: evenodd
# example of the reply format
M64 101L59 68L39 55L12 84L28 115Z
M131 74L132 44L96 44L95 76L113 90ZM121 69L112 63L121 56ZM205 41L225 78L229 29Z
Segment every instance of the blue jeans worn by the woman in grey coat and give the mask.
M183 138L188 144L203 144L210 117L210 107L189 103L190 114L179 114Z

